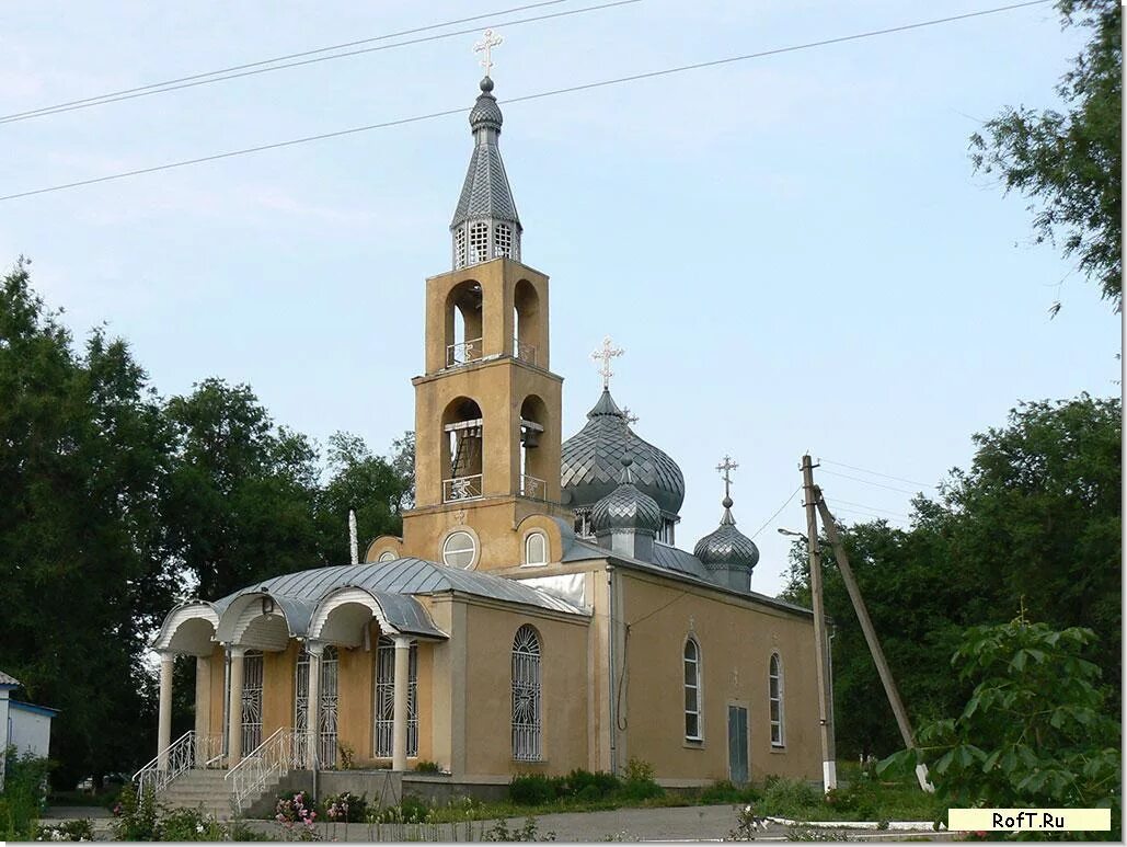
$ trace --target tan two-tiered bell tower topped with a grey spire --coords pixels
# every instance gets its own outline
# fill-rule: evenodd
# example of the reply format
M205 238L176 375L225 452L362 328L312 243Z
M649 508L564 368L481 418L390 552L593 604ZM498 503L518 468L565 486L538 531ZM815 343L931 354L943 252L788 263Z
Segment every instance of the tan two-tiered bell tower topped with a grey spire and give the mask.
M443 562L443 538L463 528L477 544L464 566L487 570L521 563L515 529L526 517L570 512L560 505L564 380L549 370L548 277L518 261L500 108L488 76L480 88L451 223L453 270L426 281L426 368L411 380L415 509L402 548Z

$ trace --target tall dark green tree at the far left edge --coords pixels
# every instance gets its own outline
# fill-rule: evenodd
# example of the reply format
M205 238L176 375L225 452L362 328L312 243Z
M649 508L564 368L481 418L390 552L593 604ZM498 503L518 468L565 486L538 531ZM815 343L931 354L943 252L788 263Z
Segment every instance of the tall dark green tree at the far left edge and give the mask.
M62 709L61 784L152 745L139 716L142 654L175 582L159 520L167 444L126 344L95 330L76 351L17 264L0 283L0 667Z

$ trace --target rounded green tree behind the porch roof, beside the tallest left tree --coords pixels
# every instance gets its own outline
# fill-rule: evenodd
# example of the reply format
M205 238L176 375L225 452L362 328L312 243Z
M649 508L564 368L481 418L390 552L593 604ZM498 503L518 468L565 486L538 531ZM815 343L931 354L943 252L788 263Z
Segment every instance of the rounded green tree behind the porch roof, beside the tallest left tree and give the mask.
M319 564L316 452L248 386L205 379L167 403L175 432L165 520L199 597Z

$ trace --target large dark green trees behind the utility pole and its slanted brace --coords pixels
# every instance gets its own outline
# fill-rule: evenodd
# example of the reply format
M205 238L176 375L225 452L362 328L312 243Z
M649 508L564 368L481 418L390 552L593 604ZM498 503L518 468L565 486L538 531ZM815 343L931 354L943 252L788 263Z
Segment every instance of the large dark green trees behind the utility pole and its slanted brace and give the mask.
M939 500L916 497L909 529L840 527L913 725L969 696L947 671L964 630L1002 624L1021 602L1054 627L1095 629L1088 658L1118 696L1121 434L1118 398L1022 404L974 436L970 469L952 470ZM826 500L833 511L832 491ZM884 755L899 736L829 549L823 582L838 750ZM783 595L809 602L805 542L792 548Z

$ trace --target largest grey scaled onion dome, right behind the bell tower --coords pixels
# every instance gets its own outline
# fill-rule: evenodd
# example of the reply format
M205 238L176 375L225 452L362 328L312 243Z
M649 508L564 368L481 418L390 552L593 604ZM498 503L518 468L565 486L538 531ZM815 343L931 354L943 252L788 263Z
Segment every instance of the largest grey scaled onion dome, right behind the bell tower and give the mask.
M677 514L685 500L685 477L668 453L636 435L611 392L603 389L587 424L564 442L560 485L573 509L591 506L619 484L623 457L633 458L633 485L657 501L666 514Z

